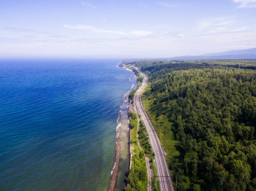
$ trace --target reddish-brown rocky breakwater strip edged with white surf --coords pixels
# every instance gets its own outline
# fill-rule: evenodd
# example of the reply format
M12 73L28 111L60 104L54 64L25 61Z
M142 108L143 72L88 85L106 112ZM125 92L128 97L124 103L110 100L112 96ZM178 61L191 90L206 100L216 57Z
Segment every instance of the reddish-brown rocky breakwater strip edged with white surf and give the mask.
M122 68L124 68L124 67L122 67ZM131 92L131 90L132 90L132 88L134 86L134 84L131 81L131 77L129 77L129 81L131 82L132 86L131 86L130 90L124 94L123 104L120 105L120 110L119 110L118 118L116 120L117 121L117 126L116 126L116 160L115 160L115 165L113 167L113 170L111 171L112 178L111 178L111 182L110 182L109 191L113 191L114 187L116 185L116 174L117 174L117 170L118 170L119 154L120 154L120 126L121 126L122 109L124 107L124 103L126 102L125 100L126 100L127 96L129 95L129 93ZM136 79L136 81L137 81L137 79ZM129 111L129 104L128 104L128 111ZM128 123L128 127L129 127L129 124L130 123ZM130 128L129 128L129 131L130 131ZM130 132L129 132L129 134L130 134ZM129 139L129 142L130 142L130 137L128 137L128 139Z

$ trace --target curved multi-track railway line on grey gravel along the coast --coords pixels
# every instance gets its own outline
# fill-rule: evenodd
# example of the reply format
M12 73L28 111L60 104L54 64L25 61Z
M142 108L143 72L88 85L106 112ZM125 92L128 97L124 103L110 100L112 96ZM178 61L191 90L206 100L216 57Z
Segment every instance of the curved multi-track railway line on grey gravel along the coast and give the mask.
M140 73L144 77L144 79L143 79L142 85L140 86L140 88L138 89L138 91L135 94L135 107L137 109L139 109L139 111L140 111L141 118L144 121L144 124L147 128L147 131L149 134L149 140L150 140L151 146L153 148L153 151L155 153L156 168L157 168L157 175L158 175L158 180L159 180L159 184L160 184L160 190L161 191L173 191L174 189L172 186L172 181L170 179L171 176L170 176L169 170L167 168L167 164L166 164L166 161L164 158L164 152L160 145L160 141L158 139L158 136L156 135L156 131L153 128L153 125L151 124L151 122L142 106L141 93L146 86L148 78L142 72L140 72Z

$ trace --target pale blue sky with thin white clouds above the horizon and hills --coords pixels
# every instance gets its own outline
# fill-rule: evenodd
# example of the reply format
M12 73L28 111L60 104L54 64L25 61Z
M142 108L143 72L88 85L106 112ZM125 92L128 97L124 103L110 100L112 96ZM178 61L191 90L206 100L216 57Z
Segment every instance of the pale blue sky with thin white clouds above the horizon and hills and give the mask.
M256 48L256 0L0 0L0 58L166 58Z

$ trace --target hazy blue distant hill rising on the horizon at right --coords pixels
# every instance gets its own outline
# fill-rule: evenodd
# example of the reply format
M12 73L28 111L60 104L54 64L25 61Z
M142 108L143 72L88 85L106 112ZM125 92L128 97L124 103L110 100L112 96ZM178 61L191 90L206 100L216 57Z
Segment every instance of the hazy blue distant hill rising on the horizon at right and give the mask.
M188 59L256 59L256 48L244 50L231 50L226 52L204 54L199 56L176 56L167 58L168 60L188 60Z

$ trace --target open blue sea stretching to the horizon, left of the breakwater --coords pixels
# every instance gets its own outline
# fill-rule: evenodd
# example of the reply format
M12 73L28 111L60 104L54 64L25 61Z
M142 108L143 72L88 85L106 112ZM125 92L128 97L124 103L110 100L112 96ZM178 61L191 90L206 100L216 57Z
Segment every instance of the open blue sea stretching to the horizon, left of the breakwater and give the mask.
M0 190L107 190L130 71L120 60L0 60Z

